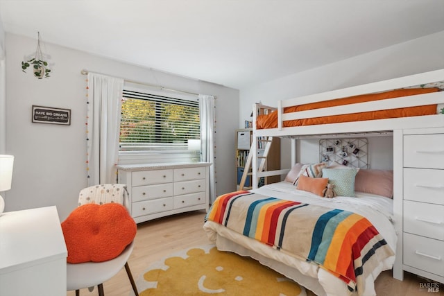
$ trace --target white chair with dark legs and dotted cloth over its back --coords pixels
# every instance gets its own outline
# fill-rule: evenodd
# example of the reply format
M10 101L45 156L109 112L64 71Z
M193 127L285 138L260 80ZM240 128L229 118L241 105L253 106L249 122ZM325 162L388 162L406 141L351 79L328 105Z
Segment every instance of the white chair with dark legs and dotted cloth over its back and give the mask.
M81 190L78 201L79 206L87 203L119 202L128 207L128 192L126 185L123 184L101 184ZM89 288L89 291L92 291L94 286L97 286L99 296L104 296L103 282L114 277L125 266L134 293L139 295L128 265L128 258L133 252L133 247L134 241L119 256L108 261L67 263L67 290L76 290L76 296L79 296L81 288Z

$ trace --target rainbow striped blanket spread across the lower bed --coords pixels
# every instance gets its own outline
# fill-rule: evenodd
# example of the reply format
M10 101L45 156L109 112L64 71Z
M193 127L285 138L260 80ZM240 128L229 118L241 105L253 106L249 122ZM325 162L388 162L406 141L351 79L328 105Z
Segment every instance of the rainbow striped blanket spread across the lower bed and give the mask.
M394 254L363 216L250 191L219 196L205 220L316 263L345 281L350 291L365 286L379 261Z

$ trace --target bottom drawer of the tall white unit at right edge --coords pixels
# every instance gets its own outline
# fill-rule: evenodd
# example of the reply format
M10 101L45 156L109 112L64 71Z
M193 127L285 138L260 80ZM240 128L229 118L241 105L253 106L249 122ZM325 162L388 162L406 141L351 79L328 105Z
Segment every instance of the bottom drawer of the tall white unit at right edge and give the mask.
M444 241L404 233L404 265L444 277Z

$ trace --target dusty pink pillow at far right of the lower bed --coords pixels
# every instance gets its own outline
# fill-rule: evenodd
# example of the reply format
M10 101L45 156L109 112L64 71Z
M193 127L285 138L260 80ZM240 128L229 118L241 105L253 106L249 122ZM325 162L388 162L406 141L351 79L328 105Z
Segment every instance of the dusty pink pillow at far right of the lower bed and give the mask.
M359 170L355 179L355 191L393 198L393 171Z

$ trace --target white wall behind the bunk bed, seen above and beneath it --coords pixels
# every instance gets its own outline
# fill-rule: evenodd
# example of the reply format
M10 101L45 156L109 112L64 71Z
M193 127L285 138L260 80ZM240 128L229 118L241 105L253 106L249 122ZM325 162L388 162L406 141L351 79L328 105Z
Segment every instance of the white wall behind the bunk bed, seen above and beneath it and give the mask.
M444 31L410 40L385 49L359 55L323 67L282 77L241 89L239 127L250 119L253 103L277 106L277 101L307 94L327 92L355 85L408 76L425 71L444 69ZM298 161L318 160L318 141L298 141ZM288 140L282 141L282 168L290 164ZM316 146L316 148L314 148ZM393 164L391 137L369 139L370 167L388 169ZM373 147L380 148L379 150ZM388 151L381 155L381 151ZM389 156L387 156L389 155Z

